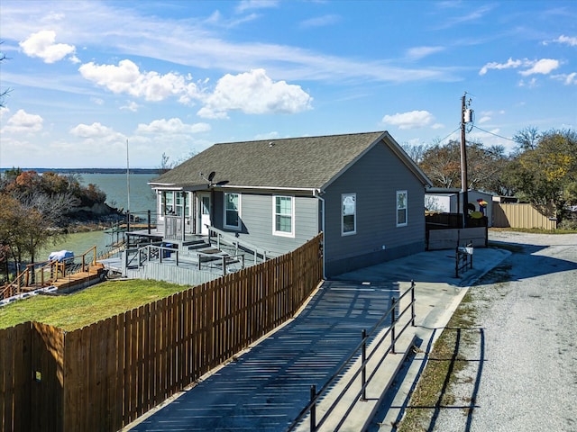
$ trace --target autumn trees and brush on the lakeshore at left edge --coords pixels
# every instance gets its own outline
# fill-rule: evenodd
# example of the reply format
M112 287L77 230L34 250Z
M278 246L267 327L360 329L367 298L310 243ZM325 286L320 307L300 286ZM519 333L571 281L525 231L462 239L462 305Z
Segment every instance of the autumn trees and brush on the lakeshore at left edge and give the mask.
M4 279L38 251L66 236L70 223L114 217L106 194L96 184L81 184L78 174L6 170L0 175L0 272ZM0 278L1 279L1 278Z

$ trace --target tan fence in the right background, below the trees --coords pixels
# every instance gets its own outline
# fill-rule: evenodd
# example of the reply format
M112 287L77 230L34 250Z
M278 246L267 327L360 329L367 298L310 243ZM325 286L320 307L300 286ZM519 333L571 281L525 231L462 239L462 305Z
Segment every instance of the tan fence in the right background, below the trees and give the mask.
M528 203L493 202L493 227L557 229L557 220Z

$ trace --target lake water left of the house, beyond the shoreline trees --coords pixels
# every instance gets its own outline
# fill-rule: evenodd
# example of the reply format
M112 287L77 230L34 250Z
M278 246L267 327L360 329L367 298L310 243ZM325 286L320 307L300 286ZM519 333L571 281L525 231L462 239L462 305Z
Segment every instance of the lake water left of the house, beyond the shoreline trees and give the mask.
M148 182L158 175L154 174L131 174L130 180L130 211L133 214L142 214L156 209L154 193ZM128 182L125 174L82 174L81 183L96 184L101 191L106 193L106 203L119 209L128 209ZM96 246L96 251L104 251L105 247L112 243L115 238L105 231L79 232L69 234L63 241L56 245L49 245L41 250L37 261L48 259L50 252L58 250L71 250L75 256L87 252L90 247Z

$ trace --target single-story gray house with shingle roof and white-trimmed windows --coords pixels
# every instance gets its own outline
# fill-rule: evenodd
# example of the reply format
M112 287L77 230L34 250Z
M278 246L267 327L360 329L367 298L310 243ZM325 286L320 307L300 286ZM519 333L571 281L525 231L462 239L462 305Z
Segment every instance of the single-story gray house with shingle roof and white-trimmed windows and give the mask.
M279 256L324 232L327 277L425 250L431 182L387 131L215 144L150 185L167 234Z

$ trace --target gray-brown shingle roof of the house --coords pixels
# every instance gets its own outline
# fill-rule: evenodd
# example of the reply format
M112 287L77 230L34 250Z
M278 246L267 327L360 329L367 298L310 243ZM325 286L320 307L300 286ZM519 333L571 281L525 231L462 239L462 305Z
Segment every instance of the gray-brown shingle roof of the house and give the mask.
M389 145L398 148L387 132L215 144L151 180L150 184L194 188L206 185L200 173L207 176L215 171L215 183L227 181L227 185L245 187L320 189L380 139L386 139ZM416 167L410 158L405 163Z

